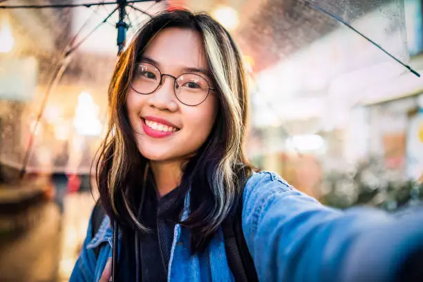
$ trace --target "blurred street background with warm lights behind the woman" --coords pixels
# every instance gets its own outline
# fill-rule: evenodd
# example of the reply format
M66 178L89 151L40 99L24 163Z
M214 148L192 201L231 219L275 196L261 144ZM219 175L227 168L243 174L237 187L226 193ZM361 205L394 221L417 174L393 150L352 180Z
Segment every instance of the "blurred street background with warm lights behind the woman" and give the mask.
M119 19L77 4L102 2L0 0L0 281L67 281L84 240ZM307 3L423 73L422 0L138 1L126 40L162 10L211 13L243 51L256 167L333 207L417 205L422 78Z

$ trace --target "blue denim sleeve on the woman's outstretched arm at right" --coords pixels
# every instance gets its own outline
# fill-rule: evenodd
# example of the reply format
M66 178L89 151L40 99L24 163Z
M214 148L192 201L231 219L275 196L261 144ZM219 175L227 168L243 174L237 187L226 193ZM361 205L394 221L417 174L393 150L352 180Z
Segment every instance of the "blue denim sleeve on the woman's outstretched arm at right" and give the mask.
M423 212L402 218L325 207L275 173L244 190L243 232L260 281L395 281L423 250Z

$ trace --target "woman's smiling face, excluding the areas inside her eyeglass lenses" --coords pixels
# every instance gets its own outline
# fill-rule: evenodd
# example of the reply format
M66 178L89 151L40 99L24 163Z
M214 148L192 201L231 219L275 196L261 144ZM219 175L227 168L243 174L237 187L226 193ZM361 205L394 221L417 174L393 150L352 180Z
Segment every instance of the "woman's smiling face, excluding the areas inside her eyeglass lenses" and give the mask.
M211 77L199 72L208 71L204 52L198 32L167 28L151 40L142 57L162 74L178 77L196 73L213 88ZM131 87L126 95L126 109L138 150L153 161L192 156L207 140L218 111L218 98L212 90L198 106L182 104L175 95L174 79L167 75L163 76L162 85L149 95L137 93Z

